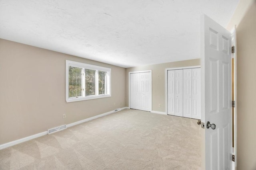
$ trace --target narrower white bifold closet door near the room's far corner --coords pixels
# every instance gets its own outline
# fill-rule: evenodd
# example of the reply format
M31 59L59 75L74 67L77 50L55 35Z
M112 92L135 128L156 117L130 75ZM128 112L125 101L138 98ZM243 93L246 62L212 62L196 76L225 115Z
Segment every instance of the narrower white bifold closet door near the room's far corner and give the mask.
M151 72L130 74L130 108L151 111L152 108Z

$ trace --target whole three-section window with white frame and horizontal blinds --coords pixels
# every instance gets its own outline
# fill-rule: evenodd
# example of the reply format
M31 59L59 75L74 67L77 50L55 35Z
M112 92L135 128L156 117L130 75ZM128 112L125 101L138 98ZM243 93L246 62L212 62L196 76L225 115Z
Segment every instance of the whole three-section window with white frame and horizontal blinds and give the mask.
M66 101L110 97L111 68L66 60Z

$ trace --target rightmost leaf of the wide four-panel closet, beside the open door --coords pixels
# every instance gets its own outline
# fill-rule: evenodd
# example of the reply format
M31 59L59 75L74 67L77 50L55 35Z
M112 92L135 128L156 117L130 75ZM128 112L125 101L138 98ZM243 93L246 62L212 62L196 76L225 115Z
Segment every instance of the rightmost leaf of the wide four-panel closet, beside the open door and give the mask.
M201 68L192 69L192 115L201 119Z

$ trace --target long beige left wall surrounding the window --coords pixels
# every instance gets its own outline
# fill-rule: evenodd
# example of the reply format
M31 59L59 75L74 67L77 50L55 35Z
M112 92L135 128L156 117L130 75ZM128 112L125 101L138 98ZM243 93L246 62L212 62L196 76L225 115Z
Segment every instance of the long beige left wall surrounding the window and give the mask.
M112 97L66 103L65 60L112 68ZM125 75L125 68L0 39L0 144L124 107Z

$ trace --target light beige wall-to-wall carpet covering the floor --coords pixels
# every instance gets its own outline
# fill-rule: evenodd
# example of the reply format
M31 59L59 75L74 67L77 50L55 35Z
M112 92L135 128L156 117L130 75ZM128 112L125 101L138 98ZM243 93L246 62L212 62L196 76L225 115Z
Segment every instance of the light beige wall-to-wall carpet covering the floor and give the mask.
M0 169L198 170L196 119L125 109L0 150Z

